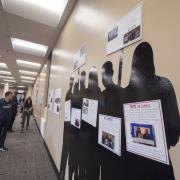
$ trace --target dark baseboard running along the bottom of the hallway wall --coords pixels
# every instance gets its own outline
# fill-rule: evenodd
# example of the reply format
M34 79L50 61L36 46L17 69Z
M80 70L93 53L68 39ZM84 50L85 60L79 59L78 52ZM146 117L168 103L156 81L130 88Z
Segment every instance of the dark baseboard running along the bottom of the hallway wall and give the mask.
M42 138L42 140L43 140L43 143L44 143L46 152L47 152L48 157L49 157L49 159L50 159L50 161L51 161L51 164L52 164L52 167L53 167L53 169L54 169L54 172L55 172L55 174L56 174L56 176L57 176L57 179L60 179L60 173L59 173L58 168L56 167L56 164L55 164L55 162L54 162L54 160L53 160L53 158L52 158L52 156L51 156L51 153L49 152L49 148L48 148L46 142L44 141L44 138L43 138L43 136L42 136L42 134L41 134L41 131L40 131L40 129L39 129L39 126L38 126L38 124L37 124L36 118L33 118L33 119L34 119L34 121L35 121L35 123L36 123L36 126L37 126L37 128L38 128L39 134L40 134L40 136L41 136L41 138Z

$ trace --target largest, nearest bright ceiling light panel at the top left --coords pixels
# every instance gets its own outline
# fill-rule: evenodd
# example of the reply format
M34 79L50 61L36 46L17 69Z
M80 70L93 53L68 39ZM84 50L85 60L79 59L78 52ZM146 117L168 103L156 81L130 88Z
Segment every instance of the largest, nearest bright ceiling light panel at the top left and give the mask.
M68 0L1 0L4 11L57 27Z

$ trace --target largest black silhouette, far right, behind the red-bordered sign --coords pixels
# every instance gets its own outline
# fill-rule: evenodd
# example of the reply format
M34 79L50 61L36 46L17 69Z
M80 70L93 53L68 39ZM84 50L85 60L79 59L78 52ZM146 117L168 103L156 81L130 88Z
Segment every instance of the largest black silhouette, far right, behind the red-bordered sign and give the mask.
M168 149L179 140L180 118L176 95L171 82L155 75L153 50L149 43L137 46L133 54L129 85L125 89L126 102L161 100ZM156 132L155 132L156 133ZM173 167L145 157L128 153L127 180L174 180Z

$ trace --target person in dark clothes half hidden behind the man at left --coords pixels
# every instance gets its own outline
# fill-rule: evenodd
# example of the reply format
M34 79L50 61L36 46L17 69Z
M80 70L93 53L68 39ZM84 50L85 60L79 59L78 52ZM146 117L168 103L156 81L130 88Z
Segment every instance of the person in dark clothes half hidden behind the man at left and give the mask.
M17 100L17 97L15 95L13 95L13 97L12 97L12 117L11 117L11 121L9 124L9 132L13 132L13 124L16 119L17 108L18 108L18 100Z

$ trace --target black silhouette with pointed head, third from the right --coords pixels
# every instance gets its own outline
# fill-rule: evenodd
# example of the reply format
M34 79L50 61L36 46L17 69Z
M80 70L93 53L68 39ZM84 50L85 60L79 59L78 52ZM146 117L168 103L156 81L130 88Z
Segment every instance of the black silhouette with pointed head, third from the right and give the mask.
M98 86L98 75L96 67L89 72L88 88L83 94L84 98L100 101L101 89ZM99 180L100 163L98 154L98 113L96 127L82 121L80 131L80 180Z

